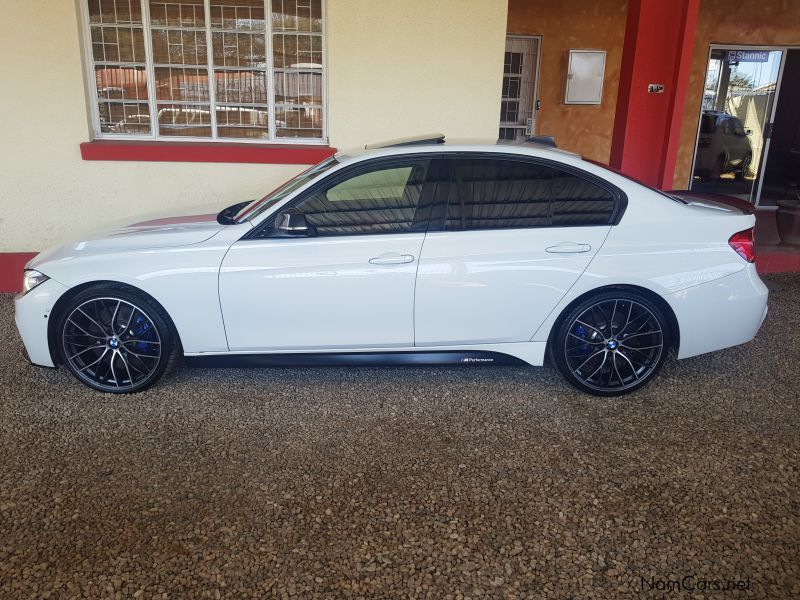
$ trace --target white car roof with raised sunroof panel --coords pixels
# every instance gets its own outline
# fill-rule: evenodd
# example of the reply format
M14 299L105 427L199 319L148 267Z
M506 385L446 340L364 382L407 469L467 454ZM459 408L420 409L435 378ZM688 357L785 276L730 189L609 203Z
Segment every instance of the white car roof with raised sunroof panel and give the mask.
M581 160L580 155L567 152L553 146L531 142L528 140L505 141L493 140L488 138L456 138L448 139L441 133L397 138L384 142L376 142L359 146L344 152L338 152L336 158L339 161L349 161L352 159L364 159L370 156L394 156L398 154L416 153L442 153L442 152L491 152L505 154L524 154L529 156L540 156L554 160L564 160L564 158Z

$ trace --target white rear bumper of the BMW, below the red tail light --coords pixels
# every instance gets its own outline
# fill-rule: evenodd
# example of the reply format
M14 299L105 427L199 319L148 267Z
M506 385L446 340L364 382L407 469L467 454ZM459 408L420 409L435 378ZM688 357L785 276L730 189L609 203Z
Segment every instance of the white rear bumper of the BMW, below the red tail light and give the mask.
M767 316L767 287L755 265L667 296L678 319L678 358L744 344Z

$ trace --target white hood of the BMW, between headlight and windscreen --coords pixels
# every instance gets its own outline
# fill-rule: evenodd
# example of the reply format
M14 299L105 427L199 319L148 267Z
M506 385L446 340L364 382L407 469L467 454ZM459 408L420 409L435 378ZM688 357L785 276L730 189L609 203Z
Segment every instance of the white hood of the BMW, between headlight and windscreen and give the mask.
M37 255L28 266L68 260L91 254L129 252L155 248L174 248L199 244L216 235L224 225L217 222L217 212L210 207L188 209L187 214L156 213L131 218L104 229L89 232L62 246Z

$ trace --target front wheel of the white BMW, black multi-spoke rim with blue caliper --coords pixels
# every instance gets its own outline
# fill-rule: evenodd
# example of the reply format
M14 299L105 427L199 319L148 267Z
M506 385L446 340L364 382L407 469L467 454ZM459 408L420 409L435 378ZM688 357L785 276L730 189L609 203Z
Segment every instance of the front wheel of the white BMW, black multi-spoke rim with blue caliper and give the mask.
M169 317L143 294L98 285L82 290L59 312L54 332L61 362L95 390L146 390L177 355Z

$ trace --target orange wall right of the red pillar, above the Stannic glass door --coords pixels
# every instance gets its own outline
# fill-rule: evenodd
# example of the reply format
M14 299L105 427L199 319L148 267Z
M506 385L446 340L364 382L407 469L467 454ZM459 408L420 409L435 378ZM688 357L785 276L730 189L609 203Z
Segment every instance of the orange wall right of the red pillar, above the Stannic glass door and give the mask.
M800 46L798 0L702 0L673 187L686 188L710 44Z

